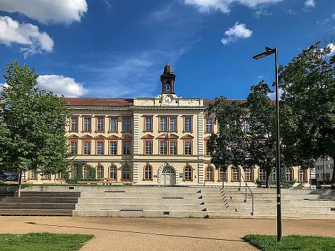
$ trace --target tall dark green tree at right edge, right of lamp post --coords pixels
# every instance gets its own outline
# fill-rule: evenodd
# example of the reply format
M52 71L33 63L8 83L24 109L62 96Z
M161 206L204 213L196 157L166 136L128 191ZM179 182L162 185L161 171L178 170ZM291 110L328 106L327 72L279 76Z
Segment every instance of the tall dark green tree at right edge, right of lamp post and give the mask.
M335 56L330 50L317 42L279 68L281 135L290 165L308 168L316 158L335 159Z

